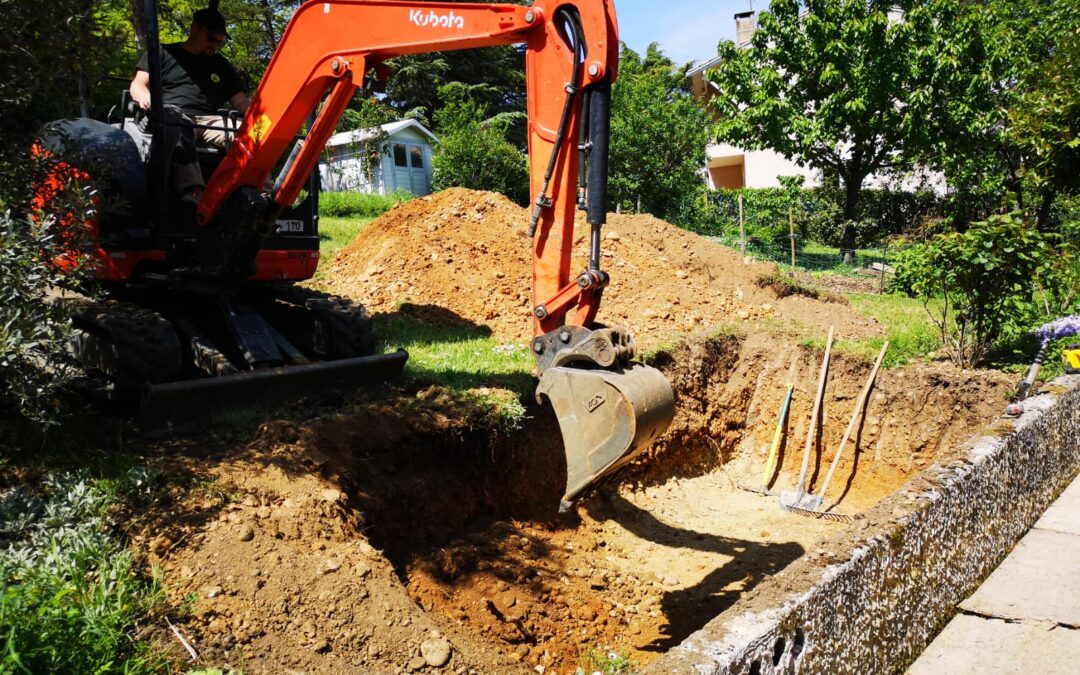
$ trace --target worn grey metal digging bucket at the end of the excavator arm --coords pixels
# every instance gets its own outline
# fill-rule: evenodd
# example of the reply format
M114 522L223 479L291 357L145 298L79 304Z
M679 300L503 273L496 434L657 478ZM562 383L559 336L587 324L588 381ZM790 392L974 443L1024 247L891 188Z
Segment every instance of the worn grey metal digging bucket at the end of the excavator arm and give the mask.
M555 409L566 448L566 494L559 512L652 445L675 417L667 378L636 362L620 370L549 368L537 387L537 399L541 396Z

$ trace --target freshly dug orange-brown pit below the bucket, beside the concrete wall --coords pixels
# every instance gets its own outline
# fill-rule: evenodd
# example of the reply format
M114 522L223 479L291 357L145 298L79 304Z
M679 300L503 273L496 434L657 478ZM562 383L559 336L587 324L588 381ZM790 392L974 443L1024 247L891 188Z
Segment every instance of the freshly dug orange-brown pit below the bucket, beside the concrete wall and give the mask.
M592 651L646 665L793 562L824 555L845 527L784 512L759 487L785 380L794 396L773 490L792 489L821 355L774 338L719 338L662 354L677 416L651 457L558 516L565 460L545 408L491 434L355 418L324 422L313 445L410 598L436 623L529 666L572 672ZM869 364L835 355L811 456L821 484ZM886 370L825 507L858 515L959 443L998 406L1004 378L941 368ZM374 422L374 420L373 420ZM357 448L364 448L357 453ZM823 467L824 465L824 467ZM778 591L759 597L775 602ZM783 591L781 590L782 594ZM759 596L761 594L758 594Z

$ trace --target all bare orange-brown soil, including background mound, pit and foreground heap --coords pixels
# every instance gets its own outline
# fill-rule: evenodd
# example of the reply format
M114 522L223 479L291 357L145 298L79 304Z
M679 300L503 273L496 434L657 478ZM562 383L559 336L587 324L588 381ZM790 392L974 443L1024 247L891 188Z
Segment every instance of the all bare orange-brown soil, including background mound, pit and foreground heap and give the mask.
M327 282L375 312L524 341L525 222L525 210L495 194L414 200L368 225ZM777 491L797 483L821 361L807 339L829 325L846 339L881 327L842 301L778 298L756 283L773 266L656 218L612 215L606 232L613 282L599 319L627 325L676 392L675 421L648 457L559 515L565 459L550 410L527 402L525 428L503 432L436 388L161 444L152 461L168 488L127 518L200 663L570 673L623 651L645 665L751 591L762 606L781 600L797 582L780 588L771 576L806 556L825 563L837 552L822 542L870 526L799 517L740 486L762 483L788 381L769 478ZM834 354L812 491L869 369ZM991 423L1011 384L941 364L880 373L826 508L858 515L900 489Z

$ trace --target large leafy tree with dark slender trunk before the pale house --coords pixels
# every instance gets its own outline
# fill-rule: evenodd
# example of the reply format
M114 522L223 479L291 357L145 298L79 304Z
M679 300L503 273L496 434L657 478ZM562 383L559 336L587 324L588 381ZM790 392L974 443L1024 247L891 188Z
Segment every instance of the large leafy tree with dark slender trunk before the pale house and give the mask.
M838 176L840 246L854 248L866 177L909 168L933 143L931 120L966 85L959 65L977 54L948 36L972 29L972 6L774 0L750 46L720 43L707 73L717 138Z

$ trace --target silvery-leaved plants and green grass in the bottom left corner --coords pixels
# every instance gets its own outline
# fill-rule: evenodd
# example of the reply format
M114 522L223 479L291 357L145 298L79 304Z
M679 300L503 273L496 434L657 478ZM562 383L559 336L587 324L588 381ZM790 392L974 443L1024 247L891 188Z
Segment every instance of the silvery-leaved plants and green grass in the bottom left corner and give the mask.
M51 473L0 491L0 673L157 673L164 658L134 624L164 602L136 570L107 511L149 489L145 470L114 480Z

